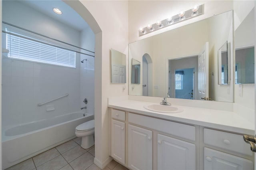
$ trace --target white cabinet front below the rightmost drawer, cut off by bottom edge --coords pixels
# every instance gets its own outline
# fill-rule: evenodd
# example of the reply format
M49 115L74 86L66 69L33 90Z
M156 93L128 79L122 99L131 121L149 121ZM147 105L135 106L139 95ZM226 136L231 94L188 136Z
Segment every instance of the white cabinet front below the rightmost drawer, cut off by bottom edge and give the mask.
M240 158L217 150L204 148L205 170L252 170L250 160Z

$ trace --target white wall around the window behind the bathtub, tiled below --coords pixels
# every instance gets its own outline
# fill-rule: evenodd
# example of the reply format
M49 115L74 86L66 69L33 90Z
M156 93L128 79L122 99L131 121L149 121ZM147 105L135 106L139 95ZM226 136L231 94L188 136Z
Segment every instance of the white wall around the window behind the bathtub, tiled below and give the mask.
M74 45L80 44L80 32L17 1L3 1L5 22L39 32ZM24 12L26 11L26 13ZM76 69L2 58L2 127L47 119L80 110L80 56ZM42 103L68 93L38 107ZM55 105L54 111L46 111Z

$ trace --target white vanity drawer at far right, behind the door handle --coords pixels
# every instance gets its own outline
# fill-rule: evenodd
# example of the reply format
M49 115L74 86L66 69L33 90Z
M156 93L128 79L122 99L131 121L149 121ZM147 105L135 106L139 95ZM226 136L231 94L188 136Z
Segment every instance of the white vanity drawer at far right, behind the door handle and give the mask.
M250 145L239 134L204 128L204 143L252 156Z

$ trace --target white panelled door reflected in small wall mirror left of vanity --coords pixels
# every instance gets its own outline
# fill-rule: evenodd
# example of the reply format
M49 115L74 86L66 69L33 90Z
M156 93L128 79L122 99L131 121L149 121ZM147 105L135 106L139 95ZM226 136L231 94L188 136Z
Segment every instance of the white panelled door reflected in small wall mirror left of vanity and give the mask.
M120 64L112 64L112 83L125 83L126 67Z

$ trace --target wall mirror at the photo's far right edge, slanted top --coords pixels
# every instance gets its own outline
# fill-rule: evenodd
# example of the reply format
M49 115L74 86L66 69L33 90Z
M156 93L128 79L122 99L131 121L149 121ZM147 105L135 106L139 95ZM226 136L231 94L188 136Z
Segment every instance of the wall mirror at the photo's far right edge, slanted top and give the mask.
M235 31L235 83L254 83L254 8Z

